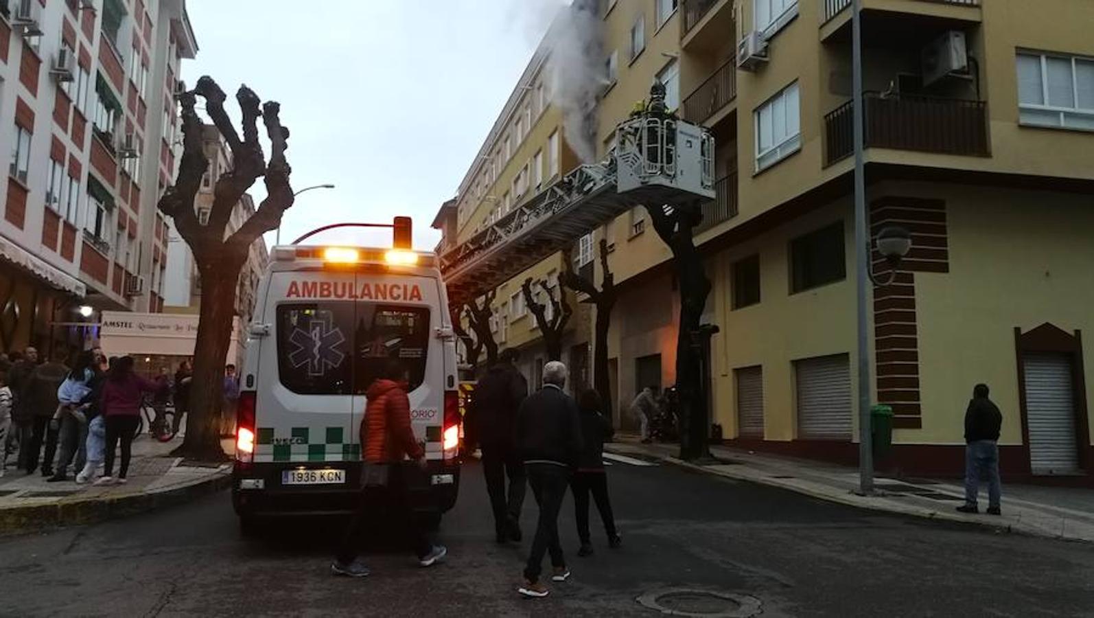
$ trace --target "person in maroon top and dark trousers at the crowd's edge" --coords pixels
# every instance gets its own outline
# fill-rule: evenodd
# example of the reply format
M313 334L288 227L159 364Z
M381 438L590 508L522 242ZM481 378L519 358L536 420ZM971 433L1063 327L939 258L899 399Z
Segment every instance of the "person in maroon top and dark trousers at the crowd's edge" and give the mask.
M133 438L140 422L140 405L146 393L154 393L156 385L133 372L133 358L121 357L115 361L103 386L102 413L106 423L106 467L95 485L125 483L132 456ZM121 443L121 465L114 478L114 454Z

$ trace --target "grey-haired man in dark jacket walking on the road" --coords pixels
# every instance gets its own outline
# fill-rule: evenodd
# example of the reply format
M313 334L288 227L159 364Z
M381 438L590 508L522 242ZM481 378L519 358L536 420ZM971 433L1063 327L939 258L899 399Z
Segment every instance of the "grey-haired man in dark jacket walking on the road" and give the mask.
M524 568L524 596L544 597L549 591L539 581L544 553L550 551L551 581L570 578L562 545L558 538L558 512L566 497L566 486L582 452L581 418L578 405L562 388L567 369L558 361L544 365L544 387L521 404L516 412L516 444L524 457L532 494L539 505L536 536L532 540L528 563Z

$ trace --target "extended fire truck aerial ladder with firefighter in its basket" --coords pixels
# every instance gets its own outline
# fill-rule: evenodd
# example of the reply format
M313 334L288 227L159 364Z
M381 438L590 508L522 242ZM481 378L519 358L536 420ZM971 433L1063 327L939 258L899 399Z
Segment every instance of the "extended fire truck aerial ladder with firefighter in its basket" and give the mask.
M453 306L516 277L637 206L687 208L714 197L714 140L670 113L655 83L616 128L616 147L440 255Z

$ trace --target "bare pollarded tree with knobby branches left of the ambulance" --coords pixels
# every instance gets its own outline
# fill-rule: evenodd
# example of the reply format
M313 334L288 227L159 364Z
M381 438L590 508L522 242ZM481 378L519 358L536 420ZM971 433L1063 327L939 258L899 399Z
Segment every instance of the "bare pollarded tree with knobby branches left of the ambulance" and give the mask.
M203 123L195 110L197 97L205 100L206 113L232 152L232 167L220 175L213 188L213 205L202 225L194 209L201 178L209 167L202 140ZM235 93L243 116L243 138L224 110L226 95L212 78L198 80L194 90L179 95L183 108L183 156L175 184L160 198L159 209L174 219L175 229L194 253L201 278L201 316L194 346L194 387L186 420L186 439L176 455L201 459L224 457L220 446L220 411L224 359L228 355L235 307L236 281L247 260L251 245L265 232L281 224L281 215L292 206L289 183L292 170L286 161L289 129L281 126L280 105L261 103L246 85ZM258 138L258 120L266 126L270 142L267 163ZM266 184L266 199L249 219L229 233L232 211L258 178Z

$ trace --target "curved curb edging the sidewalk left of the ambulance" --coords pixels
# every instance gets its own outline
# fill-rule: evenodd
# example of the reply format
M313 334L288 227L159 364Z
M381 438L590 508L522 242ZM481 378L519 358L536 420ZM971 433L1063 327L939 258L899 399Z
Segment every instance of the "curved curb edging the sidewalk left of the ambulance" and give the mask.
M220 491L231 487L231 485L232 473L224 470L214 473L207 478L158 491L12 506L0 510L0 536L91 524L164 506L174 506Z

